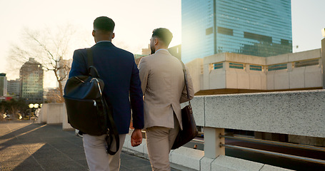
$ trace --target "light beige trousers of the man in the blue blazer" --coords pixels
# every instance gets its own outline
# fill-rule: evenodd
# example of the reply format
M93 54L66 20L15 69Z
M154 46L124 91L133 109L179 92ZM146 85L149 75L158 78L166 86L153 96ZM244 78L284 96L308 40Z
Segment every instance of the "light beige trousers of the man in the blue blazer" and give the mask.
M106 135L93 136L84 134L84 152L90 171L118 171L120 167L120 155L126 134L119 135L119 151L115 155L106 153ZM116 150L113 140L111 150Z

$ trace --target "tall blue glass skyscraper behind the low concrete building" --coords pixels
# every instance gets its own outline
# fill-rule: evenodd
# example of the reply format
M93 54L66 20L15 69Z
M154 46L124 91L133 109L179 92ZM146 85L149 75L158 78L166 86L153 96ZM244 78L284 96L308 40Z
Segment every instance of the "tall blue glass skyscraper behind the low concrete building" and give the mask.
M216 53L292 52L291 0L182 0L184 63Z

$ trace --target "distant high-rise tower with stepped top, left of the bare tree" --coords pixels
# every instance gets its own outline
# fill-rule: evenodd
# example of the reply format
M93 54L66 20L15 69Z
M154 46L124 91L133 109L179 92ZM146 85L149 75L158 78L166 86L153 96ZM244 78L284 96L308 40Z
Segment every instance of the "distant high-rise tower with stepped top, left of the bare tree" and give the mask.
M43 102L43 75L41 63L29 58L20 68L21 98L27 103Z

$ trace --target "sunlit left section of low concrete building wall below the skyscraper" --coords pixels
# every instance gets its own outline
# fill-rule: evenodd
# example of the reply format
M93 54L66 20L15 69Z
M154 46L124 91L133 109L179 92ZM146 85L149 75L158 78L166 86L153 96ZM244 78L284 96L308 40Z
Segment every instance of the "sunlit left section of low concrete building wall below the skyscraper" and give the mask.
M223 62L223 68L211 70L211 64L219 62ZM246 64L244 70L229 68L229 62L266 65L265 58L257 56L237 53L219 53L207 56L204 58L201 90L223 88L266 90L266 74L264 72L250 71L249 64ZM191 65L193 64L191 63Z

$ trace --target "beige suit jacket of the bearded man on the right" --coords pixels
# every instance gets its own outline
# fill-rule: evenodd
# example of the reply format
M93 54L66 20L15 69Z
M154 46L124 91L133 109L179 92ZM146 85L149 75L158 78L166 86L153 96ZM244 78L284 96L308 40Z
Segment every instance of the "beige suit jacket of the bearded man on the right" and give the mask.
M188 99L181 62L168 51L160 50L141 58L139 72L144 93L144 128L174 128L174 111L182 129L180 103ZM189 72L187 79L191 99L194 88Z

